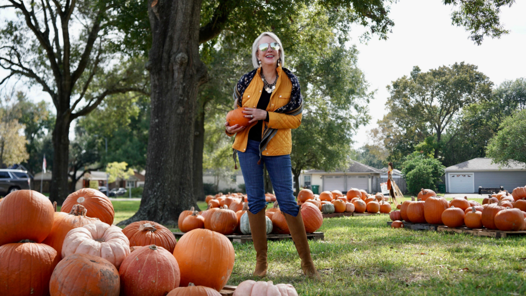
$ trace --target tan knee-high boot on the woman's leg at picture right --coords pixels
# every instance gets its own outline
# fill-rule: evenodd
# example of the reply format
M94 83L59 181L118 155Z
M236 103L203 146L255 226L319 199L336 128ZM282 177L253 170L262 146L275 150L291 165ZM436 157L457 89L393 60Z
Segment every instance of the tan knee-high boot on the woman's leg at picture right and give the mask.
M301 258L301 269L305 275L307 275L307 277L315 280L321 280L321 277L314 266L314 262L312 262L312 258L310 257L309 242L307 241L305 225L303 224L303 219L301 218L301 211L298 212L296 217L286 213L283 214L287 220L287 225L289 226L292 240L296 245L296 250L298 250L299 258Z

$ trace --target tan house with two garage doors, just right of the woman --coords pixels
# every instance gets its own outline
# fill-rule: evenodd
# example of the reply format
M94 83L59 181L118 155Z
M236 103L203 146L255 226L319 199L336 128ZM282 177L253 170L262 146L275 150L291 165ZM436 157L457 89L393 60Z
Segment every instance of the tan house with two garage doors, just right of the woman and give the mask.
M377 192L382 171L374 167L351 161L345 171L325 172L321 170L308 170L300 174L300 187L319 185L318 192L339 190L347 192L351 188L366 190L369 193Z

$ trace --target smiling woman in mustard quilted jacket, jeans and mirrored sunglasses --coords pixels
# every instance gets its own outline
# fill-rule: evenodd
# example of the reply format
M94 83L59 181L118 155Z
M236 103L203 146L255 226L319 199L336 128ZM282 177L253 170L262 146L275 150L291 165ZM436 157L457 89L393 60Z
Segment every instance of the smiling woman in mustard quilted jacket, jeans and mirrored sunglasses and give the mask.
M290 129L301 124L303 100L298 78L281 66L285 52L279 38L269 32L262 33L252 45L252 64L256 70L241 77L234 91L236 107L245 107L250 125L229 126L229 136L236 134L232 148L234 161L239 164L248 195L248 219L252 241L256 249L254 275L267 273L267 232L265 223L265 189L263 164L270 175L279 208L301 258L301 268L313 279L320 279L310 257L310 249L301 219L301 211L292 192Z

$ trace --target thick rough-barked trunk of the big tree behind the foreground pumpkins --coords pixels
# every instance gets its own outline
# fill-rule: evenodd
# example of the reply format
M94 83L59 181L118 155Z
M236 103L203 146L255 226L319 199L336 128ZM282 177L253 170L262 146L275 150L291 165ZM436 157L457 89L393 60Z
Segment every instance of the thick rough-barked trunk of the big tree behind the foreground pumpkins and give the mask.
M152 7L153 5L153 7ZM193 182L197 88L206 80L199 60L200 0L149 0L152 45L147 65L151 117L143 198L122 221L176 225L179 213L197 209Z

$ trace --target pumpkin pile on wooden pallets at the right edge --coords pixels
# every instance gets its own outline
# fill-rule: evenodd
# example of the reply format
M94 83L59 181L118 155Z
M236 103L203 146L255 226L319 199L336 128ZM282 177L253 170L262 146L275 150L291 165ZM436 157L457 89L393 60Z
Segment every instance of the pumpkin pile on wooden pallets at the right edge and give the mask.
M490 194L482 204L464 198L447 201L429 189L422 189L417 201L404 201L400 211L393 211L391 227L403 227L403 221L412 223L443 224L450 228L519 231L526 230L526 187Z

